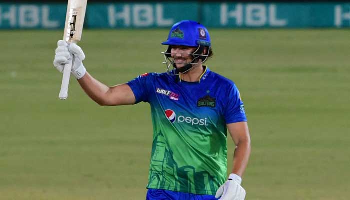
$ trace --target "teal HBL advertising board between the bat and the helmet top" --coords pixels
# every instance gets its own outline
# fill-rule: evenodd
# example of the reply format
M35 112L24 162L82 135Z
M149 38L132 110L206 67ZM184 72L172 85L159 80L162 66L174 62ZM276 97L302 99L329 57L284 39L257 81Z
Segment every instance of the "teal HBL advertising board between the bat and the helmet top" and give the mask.
M171 27L175 22L198 20L199 3L109 3L87 7L87 26L91 28Z

